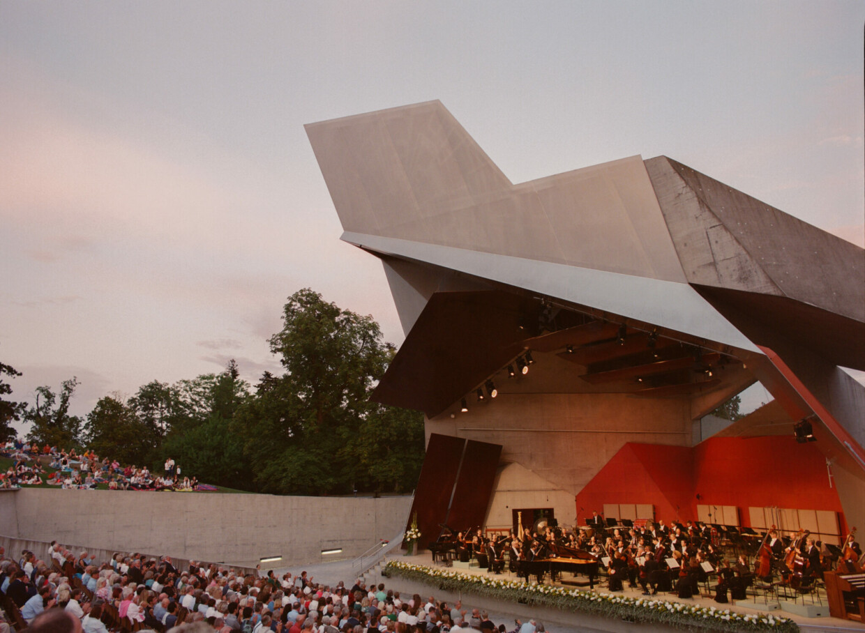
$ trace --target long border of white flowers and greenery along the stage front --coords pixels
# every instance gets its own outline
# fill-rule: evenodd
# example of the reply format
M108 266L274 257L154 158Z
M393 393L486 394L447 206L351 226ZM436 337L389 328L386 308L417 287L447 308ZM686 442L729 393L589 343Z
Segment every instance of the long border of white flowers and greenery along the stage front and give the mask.
M647 598L627 598L599 591L585 591L567 587L538 585L522 580L505 580L489 576L454 572L388 561L381 571L384 576L437 585L442 591L462 591L478 596L498 598L531 606L552 607L602 617L614 617L628 622L665 624L677 629L719 631L763 631L783 633L798 631L797 623L772 614L745 615L729 609L691 606L679 602Z

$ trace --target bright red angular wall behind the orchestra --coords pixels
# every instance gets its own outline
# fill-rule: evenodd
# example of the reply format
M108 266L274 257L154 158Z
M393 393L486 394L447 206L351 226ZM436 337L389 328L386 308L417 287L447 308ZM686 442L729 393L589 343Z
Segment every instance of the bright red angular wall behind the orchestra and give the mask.
M577 495L580 523L604 503L654 503L668 523L676 514L695 520L698 503L738 506L744 526L752 506L842 512L817 446L784 436L710 438L694 448L625 444ZM841 523L846 533L843 515Z

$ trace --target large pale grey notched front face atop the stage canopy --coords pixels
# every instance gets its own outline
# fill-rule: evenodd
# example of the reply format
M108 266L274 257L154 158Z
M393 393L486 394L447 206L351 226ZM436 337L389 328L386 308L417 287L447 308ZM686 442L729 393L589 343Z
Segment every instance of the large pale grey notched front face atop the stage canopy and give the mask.
M438 101L306 130L346 231L685 281L641 157L514 185Z

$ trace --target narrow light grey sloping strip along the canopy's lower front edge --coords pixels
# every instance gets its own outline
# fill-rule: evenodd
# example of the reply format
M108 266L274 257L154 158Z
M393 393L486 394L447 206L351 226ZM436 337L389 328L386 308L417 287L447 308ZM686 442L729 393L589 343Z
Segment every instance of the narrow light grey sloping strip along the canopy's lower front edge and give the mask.
M687 284L376 235L346 232L342 239L376 253L450 268L646 323L663 323L665 328L760 353Z

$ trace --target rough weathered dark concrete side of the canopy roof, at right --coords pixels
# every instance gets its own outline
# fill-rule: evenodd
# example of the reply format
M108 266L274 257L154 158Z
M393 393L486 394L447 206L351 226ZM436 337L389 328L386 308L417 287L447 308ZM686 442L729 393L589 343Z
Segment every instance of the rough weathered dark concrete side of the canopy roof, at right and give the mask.
M865 251L831 233L785 214L750 195L718 182L667 157L646 163L658 191L689 283L781 294L838 315L865 322ZM664 195L664 190L675 195ZM688 240L706 230L704 240ZM706 251L708 246L708 251ZM721 246L721 253L715 252ZM702 250L718 279L688 265L685 250ZM698 278L699 277L699 278Z

